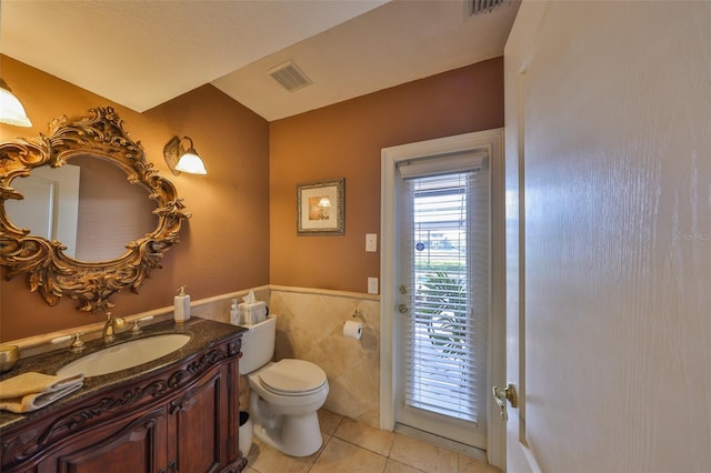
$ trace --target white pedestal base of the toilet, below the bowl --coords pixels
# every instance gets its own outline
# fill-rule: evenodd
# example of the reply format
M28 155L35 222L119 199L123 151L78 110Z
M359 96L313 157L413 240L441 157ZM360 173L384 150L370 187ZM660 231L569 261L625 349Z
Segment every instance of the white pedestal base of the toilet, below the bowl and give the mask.
M319 451L323 439L317 413L307 415L282 415L280 426L267 427L254 423L254 436L291 456L309 456Z

